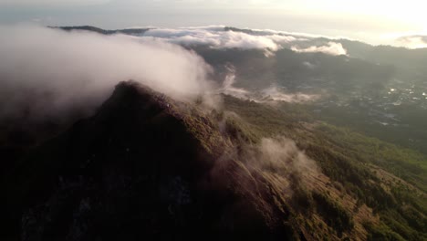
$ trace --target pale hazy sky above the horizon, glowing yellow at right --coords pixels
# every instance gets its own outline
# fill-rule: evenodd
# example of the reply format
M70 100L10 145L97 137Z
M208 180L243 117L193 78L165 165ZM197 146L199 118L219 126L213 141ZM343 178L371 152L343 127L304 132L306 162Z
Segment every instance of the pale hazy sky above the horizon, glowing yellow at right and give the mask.
M224 25L389 44L427 32L424 5L419 0L0 0L0 24L107 29Z

